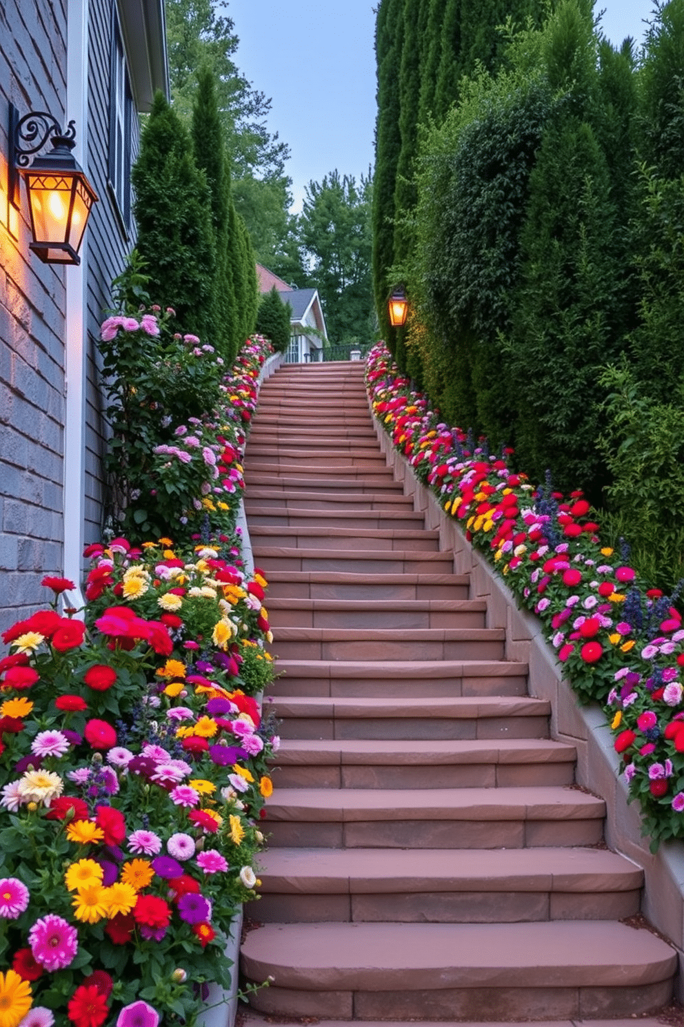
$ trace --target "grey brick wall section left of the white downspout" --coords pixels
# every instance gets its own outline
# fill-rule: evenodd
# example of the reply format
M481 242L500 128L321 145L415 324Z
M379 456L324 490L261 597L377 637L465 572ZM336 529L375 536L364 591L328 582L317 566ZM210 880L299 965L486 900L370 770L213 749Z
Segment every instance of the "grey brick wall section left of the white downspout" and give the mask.
M7 205L8 104L64 119L66 0L0 4L0 630L43 600L63 539L65 275Z

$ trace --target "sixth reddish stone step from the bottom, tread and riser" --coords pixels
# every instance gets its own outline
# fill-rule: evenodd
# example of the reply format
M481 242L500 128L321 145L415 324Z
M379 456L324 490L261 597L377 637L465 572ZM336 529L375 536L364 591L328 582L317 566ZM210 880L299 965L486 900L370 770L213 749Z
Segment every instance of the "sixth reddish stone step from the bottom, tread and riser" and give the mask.
M295 659L279 658L272 696L339 696L378 699L527 695L527 663L502 659ZM369 715L381 711L368 707ZM420 711L415 710L417 715ZM397 725L395 725L397 727ZM365 729L365 728L364 728ZM439 728L435 727L434 730Z

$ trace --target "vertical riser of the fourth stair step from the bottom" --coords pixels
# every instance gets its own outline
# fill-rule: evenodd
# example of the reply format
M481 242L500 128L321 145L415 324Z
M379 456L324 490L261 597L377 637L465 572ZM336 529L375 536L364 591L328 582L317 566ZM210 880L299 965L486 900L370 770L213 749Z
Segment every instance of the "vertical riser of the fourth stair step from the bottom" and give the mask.
M275 766L274 784L287 788L526 788L572 785L574 763L430 766Z

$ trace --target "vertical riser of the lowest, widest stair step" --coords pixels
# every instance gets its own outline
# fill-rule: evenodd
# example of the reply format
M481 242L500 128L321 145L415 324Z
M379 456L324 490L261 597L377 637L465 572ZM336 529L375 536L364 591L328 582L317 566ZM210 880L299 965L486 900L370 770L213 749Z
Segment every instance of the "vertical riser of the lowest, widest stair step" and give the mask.
M505 986L426 991L301 991L272 985L250 997L253 1009L288 1017L356 1020L462 1020L475 1023L596 1020L656 1013L673 994L673 981L633 986L525 988L515 972Z

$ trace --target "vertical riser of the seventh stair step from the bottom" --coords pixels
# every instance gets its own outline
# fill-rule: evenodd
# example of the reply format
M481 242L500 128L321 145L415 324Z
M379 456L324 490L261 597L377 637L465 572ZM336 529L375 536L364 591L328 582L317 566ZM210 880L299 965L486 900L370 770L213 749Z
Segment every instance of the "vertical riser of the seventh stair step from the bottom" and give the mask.
M332 660L438 660L438 659L502 659L504 643L489 641L421 641L405 642L385 640L306 641L305 639L276 639L271 652L283 659Z

